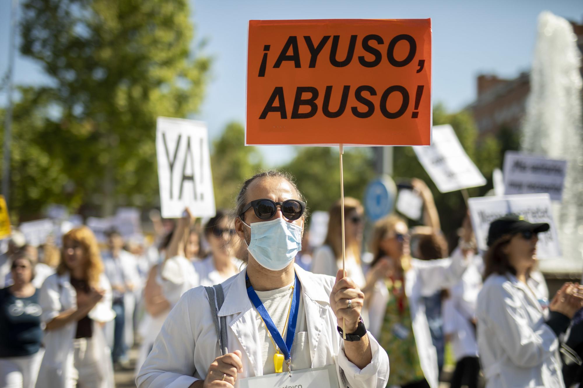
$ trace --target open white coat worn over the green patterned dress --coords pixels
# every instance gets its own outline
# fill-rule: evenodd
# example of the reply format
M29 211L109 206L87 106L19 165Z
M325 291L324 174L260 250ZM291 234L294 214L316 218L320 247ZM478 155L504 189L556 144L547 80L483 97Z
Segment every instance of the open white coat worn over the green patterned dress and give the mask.
M437 388L438 366L437 351L431 341L431 332L427 316L425 315L425 305L422 297L431 296L438 290L451 287L459 281L466 269L466 260L459 248L454 250L452 258L437 260L411 259L411 268L405 273L405 295L409 301L409 310L413 322L413 335L419 354L419 363L423 370L423 375L427 379L431 388ZM389 293L384 280L375 284L368 307L368 317L370 319L370 331L373 336L379 336L382 321L387 309Z

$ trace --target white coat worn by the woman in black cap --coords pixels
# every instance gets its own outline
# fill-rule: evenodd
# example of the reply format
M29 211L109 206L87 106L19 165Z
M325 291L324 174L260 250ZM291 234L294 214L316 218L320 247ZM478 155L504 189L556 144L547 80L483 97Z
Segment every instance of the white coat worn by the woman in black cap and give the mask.
M477 299L477 343L487 387L564 387L559 340L531 287L490 275Z

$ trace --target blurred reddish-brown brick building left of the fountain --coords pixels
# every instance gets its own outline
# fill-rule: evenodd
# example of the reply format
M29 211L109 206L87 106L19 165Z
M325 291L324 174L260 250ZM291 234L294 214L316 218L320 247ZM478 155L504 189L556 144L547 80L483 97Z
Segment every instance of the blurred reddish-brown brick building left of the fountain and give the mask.
M583 53L583 24L571 22L577 46ZM583 59L582 59L583 66ZM583 75L583 67L581 67ZM502 79L496 74L479 74L476 79L476 101L468 106L476 121L480 137L496 135L501 129L518 131L526 112L530 91L530 74L522 72L515 79Z

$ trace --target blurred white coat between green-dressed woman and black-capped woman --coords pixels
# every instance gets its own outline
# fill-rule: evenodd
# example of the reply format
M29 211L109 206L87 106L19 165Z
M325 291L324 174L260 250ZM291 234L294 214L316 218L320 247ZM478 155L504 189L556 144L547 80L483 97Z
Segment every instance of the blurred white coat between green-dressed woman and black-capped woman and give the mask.
M477 357L477 341L472 319L476 318L477 295L482 289L483 260L479 255L468 258L468 269L462 279L449 289L449 298L443 304L443 331L451 335L456 361L463 357Z

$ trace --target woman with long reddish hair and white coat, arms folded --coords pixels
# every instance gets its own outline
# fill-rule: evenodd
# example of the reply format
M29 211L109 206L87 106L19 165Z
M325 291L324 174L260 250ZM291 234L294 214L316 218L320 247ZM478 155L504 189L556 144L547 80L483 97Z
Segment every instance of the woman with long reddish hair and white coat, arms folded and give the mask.
M97 240L86 226L63 236L61 263L40 291L45 356L37 388L114 386L111 351L103 334L111 321L111 287Z

